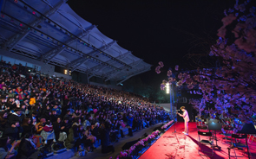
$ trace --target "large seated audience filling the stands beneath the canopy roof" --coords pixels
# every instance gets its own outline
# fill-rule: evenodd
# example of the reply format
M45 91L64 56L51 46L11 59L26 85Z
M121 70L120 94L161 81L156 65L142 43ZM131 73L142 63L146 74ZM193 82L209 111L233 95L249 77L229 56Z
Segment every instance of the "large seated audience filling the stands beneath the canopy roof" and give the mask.
M161 107L133 93L49 77L3 60L0 82L0 159L31 158L42 154L38 148L49 152L61 143L93 151L101 141L102 153L108 153L124 128L132 136L167 118Z

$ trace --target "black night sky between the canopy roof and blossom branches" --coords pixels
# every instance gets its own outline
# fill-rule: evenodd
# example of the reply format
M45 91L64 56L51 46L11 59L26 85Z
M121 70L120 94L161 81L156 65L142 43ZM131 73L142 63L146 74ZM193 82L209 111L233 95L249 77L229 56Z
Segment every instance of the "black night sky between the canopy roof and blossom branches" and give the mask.
M179 65L194 69L186 54L207 54L218 39L223 11L234 0L87 0L68 1L69 6L86 21L98 25L122 48L153 65L152 71L129 79L158 89L166 72L154 68L163 61L165 68ZM140 81L138 81L140 80ZM135 90L134 90L135 91Z

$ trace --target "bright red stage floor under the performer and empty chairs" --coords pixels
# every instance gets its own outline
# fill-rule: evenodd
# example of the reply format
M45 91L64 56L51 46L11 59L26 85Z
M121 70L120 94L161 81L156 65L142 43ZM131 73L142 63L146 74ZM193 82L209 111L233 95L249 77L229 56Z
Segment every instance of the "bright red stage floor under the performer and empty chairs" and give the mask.
M189 123L189 135L185 136L182 131L184 130L184 123L177 123L176 130L174 132L174 126L172 126L167 132L165 132L139 159L200 159L200 158L210 158L207 156L200 156L198 154L198 134L195 123ZM229 144L222 144L220 132L217 132L218 145L221 149L215 149L214 159L226 159L228 158L227 147ZM214 142L215 143L215 142ZM249 149L251 151L253 159L256 159L256 143L253 142L249 144ZM209 146L209 145L208 145ZM211 150L207 146L201 145L204 150ZM242 155L241 150L236 150L236 154ZM246 151L247 152L247 151ZM231 155L234 155L233 149L231 150ZM235 158L235 157L232 157ZM247 154L244 157L248 158Z

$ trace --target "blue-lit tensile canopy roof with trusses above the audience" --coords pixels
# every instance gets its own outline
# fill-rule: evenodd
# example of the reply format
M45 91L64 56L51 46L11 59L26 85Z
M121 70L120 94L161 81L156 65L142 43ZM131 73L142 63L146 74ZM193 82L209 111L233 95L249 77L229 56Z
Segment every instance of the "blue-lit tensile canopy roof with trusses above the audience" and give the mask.
M124 81L151 65L78 16L67 0L3 0L0 45L45 63Z

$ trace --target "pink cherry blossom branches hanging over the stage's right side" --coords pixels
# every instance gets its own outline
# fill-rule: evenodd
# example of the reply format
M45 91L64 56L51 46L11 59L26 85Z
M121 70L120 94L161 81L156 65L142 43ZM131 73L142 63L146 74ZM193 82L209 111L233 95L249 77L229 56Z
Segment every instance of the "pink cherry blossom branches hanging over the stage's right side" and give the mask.
M223 114L226 118L239 118L236 128L242 123L252 121L256 111L256 16L253 1L246 0L234 4L233 9L225 10L223 26L218 30L219 39L210 48L210 56L220 60L220 67L199 68L195 73L179 73L168 80L163 80L161 89L166 83L187 86L196 89L205 102L214 105L210 114ZM155 71L161 73L162 62ZM175 67L175 71L179 69ZM174 82L175 81L175 82ZM201 109L198 101L192 102L196 109ZM199 110L197 110L199 111ZM237 121L237 120L235 120Z

